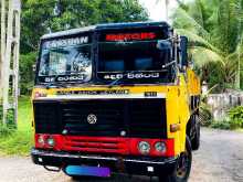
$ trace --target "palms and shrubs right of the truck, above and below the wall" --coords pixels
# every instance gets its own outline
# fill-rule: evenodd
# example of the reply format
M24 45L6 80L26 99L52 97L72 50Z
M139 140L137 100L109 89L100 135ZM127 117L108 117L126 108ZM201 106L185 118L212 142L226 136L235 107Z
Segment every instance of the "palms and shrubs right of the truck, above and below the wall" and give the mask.
M207 97L243 89L243 1L179 2L171 13L172 24L177 32L189 38L192 66L209 87L200 107L201 122L212 128L241 129L242 107L231 108L225 118L214 120Z

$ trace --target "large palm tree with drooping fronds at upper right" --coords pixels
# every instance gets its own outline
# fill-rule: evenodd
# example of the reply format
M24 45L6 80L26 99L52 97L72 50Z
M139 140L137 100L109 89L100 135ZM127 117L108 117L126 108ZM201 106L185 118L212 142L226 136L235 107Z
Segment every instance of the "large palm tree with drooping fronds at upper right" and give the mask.
M243 61L242 4L243 0L194 0L172 15L177 32L190 40L190 52L197 67L203 71L202 77L220 83L222 88L240 79L236 73Z

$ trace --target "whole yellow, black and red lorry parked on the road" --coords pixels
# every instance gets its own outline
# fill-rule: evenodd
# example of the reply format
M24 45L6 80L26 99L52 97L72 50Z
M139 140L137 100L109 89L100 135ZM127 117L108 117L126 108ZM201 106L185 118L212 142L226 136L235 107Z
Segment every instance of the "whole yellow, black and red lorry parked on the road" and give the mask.
M200 146L200 79L167 22L109 23L41 38L32 161L72 178L188 181Z

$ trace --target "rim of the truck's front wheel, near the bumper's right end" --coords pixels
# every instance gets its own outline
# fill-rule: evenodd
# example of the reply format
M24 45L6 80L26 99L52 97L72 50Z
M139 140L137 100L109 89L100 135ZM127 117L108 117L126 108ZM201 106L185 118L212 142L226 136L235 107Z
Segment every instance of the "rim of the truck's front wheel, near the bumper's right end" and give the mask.
M177 164L177 178L186 179L190 170L190 153L186 150L181 153Z

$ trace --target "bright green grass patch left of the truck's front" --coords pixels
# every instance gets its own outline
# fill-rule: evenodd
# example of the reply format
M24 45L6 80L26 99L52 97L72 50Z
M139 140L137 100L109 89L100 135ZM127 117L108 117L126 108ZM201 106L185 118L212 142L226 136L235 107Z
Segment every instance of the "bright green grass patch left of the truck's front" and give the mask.
M19 98L18 130L0 136L0 154L28 156L33 146L31 103L29 97Z

